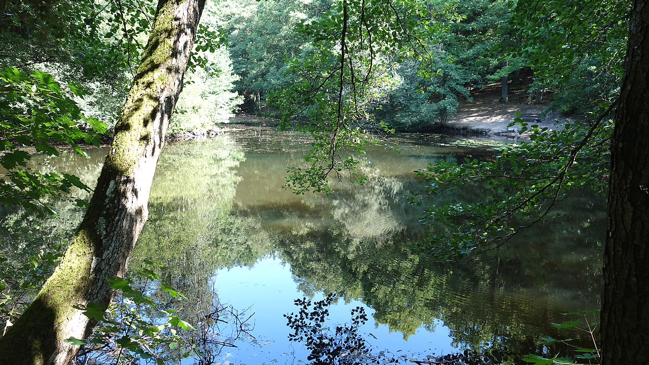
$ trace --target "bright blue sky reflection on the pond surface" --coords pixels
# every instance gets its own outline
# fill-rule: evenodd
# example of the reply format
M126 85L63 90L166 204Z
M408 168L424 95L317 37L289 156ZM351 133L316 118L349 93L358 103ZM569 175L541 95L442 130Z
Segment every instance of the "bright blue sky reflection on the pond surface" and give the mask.
M291 329L286 325L284 314L297 311L293 299L304 296L293 281L291 268L282 260L273 257L262 258L252 268L238 267L230 270L219 270L215 277L216 288L221 300L227 300L228 305L235 308L247 308L254 312L254 330L251 332L256 341L245 339L236 342L237 349L224 349L220 360L244 364L278 364L299 363L308 356L308 351L302 344L290 344L287 340ZM227 298L227 299L226 299ZM323 299L317 294L313 300ZM360 301L352 300L345 303L339 300L330 307L328 325L349 322L350 310L357 306L365 307L371 317L374 310ZM395 355L432 355L432 353L449 353L454 350L450 345L448 329L437 321L434 333L419 329L418 333L410 336L408 341L398 332L390 332L384 324L368 321L361 327L366 339L378 351L391 349ZM376 336L376 338L373 338ZM422 356L419 356L420 358Z

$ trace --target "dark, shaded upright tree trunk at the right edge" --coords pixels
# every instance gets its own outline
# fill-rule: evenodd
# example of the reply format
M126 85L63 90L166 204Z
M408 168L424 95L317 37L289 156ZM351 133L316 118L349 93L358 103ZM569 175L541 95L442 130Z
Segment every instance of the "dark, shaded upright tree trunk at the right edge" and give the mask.
M649 364L649 1L635 0L611 142L602 365Z

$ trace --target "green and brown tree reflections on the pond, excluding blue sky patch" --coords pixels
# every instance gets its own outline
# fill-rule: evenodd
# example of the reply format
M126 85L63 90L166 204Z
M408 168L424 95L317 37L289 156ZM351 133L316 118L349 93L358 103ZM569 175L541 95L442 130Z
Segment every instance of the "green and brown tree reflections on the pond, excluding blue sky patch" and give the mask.
M443 325L452 346L469 355L491 349L492 354L500 351L502 359L504 354L520 359L520 353L538 347L534 342L539 336L561 336L549 325L560 321L559 313L599 306L604 199L585 193L565 207L570 220L550 220L466 264L440 264L412 249L430 234L430 228L417 222L420 208L403 203L404 194L419 188L412 171L449 152L463 158L484 151L463 153L408 141L400 155L368 151L373 167L367 170L365 186L339 184L329 197L296 196L281 186L287 162L300 157L303 142L290 135L280 139L273 134L267 140L235 135L165 147L151 191L149 221L134 257L152 257L166 265L164 280L190 298L179 306L180 313L199 318L195 303L210 300L215 270L254 270L268 257L289 267L291 284L307 297L336 293L345 303L360 301L374 311L368 314L370 323L385 324L404 339ZM51 164L92 181L101 158L93 158L92 164L71 159ZM463 194L463 199L476 199L480 191ZM458 197L438 199L445 204ZM61 221L73 222L77 210L66 209L60 209L66 216ZM3 253L10 258L38 252L43 238L53 232L25 233L18 229L24 220L14 221L15 231L0 234L1 240L7 239ZM50 225L56 223L41 226ZM131 270L138 265L133 260ZM253 303L260 299L256 294L239 290L235 295ZM293 298L291 294L289 301ZM281 318L289 309L280 310L263 315Z

